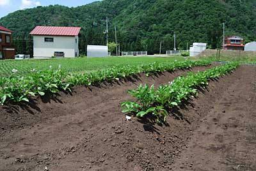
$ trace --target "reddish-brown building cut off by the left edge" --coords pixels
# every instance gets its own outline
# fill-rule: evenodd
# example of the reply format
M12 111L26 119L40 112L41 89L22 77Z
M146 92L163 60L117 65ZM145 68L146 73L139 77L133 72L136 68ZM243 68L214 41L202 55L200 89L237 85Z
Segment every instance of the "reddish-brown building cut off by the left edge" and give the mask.
M12 46L12 33L10 29L0 26L0 59L14 59L15 48Z

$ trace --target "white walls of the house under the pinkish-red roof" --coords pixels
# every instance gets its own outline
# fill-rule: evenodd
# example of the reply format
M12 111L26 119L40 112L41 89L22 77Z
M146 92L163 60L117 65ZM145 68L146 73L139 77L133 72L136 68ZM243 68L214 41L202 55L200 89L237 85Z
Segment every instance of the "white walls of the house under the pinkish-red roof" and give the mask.
M45 38L53 38L53 42L45 42ZM64 52L65 57L79 56L78 36L33 36L34 57L49 58L54 52Z

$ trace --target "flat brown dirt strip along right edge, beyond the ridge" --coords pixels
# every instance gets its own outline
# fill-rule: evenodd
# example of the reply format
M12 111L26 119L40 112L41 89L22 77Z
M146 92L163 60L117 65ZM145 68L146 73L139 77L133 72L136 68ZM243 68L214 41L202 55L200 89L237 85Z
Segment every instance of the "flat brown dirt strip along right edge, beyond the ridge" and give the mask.
M173 170L256 170L256 67L232 77Z

